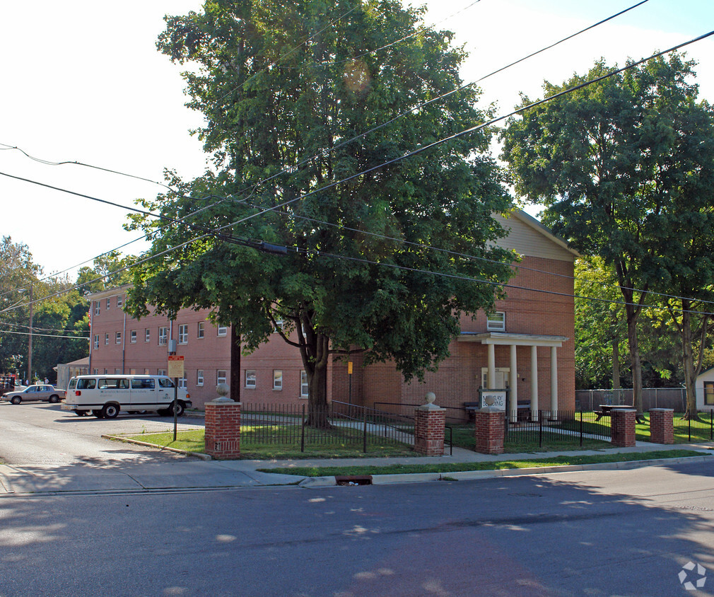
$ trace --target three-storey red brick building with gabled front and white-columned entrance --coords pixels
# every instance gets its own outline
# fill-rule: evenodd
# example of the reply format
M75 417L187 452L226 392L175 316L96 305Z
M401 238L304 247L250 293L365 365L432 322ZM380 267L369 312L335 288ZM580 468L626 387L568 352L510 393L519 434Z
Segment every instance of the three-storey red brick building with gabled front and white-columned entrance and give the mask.
M572 409L575 404L573 262L577 254L522 211L496 216L508 236L501 246L514 249L521 263L496 303L496 313L464 316L451 356L423 383L404 383L390 363L361 366L353 356L328 368L328 399L371 405L422 403L433 391L441 406L461 408L478 400L478 388L510 388L515 401L533 411ZM122 310L126 287L91 298L90 371L164 373L169 340L184 357L181 381L194 406L216 397L216 383L231 379L229 328L208 321L209 311L184 309L176 321L150 315L140 321ZM241 358L241 401L297 403L307 398L307 378L296 348L278 334Z

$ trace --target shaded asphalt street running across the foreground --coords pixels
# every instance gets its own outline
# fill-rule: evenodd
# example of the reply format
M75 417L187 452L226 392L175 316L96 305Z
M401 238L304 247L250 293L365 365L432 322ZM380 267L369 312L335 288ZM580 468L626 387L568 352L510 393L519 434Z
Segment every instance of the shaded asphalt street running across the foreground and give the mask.
M5 496L0 596L712 595L712 473Z

